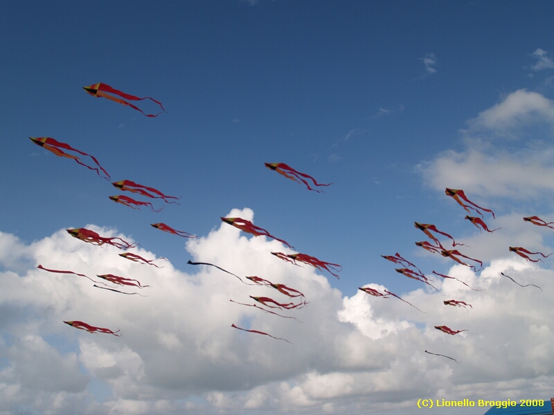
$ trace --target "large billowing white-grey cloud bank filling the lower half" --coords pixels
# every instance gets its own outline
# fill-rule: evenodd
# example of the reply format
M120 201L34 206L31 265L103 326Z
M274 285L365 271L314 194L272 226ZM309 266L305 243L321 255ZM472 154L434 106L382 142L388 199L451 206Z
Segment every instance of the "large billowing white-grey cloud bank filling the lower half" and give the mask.
M228 216L252 220L253 212ZM118 257L114 247L92 246L64 230L28 246L0 233L0 246L12 246L10 257L0 257L6 268L0 273L0 412L7 414L28 408L45 414L75 408L83 414L411 413L422 396L513 399L519 396L514 385L521 397L542 396L554 380L547 295L554 275L519 258L494 259L480 276L464 266L449 270L483 291L445 280L436 282L444 295L423 287L398 293L427 312L420 313L395 298L361 291L345 296L314 268L270 255L287 252L278 241L247 238L229 225L188 242L195 261L305 293L305 308L279 311L300 323L229 302L287 297L213 267L191 266L184 273L170 263L160 269L136 264ZM142 248L134 252L156 257ZM141 290L148 297L120 295L93 288L83 277L38 270L38 264L91 277L133 277L152 288ZM10 269L18 267L24 270ZM513 284L501 271L544 293ZM451 297L473 308L444 306ZM122 337L89 334L63 320L120 329ZM293 344L235 330L233 323ZM469 331L449 336L433 327L443 324ZM96 396L98 384L111 396Z

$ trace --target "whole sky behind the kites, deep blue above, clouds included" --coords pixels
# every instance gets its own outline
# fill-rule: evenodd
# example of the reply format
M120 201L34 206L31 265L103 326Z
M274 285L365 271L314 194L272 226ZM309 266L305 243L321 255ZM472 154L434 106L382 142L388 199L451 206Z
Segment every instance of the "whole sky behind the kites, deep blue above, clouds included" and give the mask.
M554 250L550 232L521 221L554 218L553 7L280 0L3 5L0 414L76 408L401 414L418 397L546 397L548 389L537 385L554 376L554 318L546 309L551 263L530 264L508 246ZM167 113L146 118L84 93L82 86L96 82L151 96ZM152 103L139 105L157 111ZM67 142L96 156L113 181L157 187L182 196L181 205L156 214L115 204L107 196L118 191L107 181L29 136ZM287 163L334 185L309 192L265 162ZM485 221L502 229L480 234L445 187L494 210L497 219ZM221 223L233 210L297 252L341 264L341 279L280 263L269 255L285 250L278 242ZM414 242L426 237L414 221L454 235L485 269L475 274L417 248ZM154 230L154 222L199 239L187 243ZM115 249L71 240L64 231L87 225L133 239L141 244L136 252L166 257L166 268L127 264ZM379 256L395 252L426 275L449 273L483 291L449 282L436 282L444 298L427 291ZM305 290L310 305L298 310L302 329L227 304L240 301L244 286L214 270L191 269L189 259ZM154 288L148 298L122 299L36 270L38 264L125 274ZM544 292L509 285L501 272ZM366 284L402 295L427 314L357 290ZM449 295L469 299L474 309L445 310ZM124 334L71 331L62 320ZM294 345L229 329L241 322ZM470 331L445 338L434 333L440 324ZM517 331L507 329L513 326ZM141 340L148 333L151 342ZM521 333L535 346L521 343ZM269 348L275 353L266 356ZM29 356L43 354L62 369L37 363L31 370ZM180 372L170 370L176 358ZM494 369L510 359L518 365ZM40 385L32 374L74 381ZM402 382L406 376L413 382ZM57 398L46 398L53 391Z

